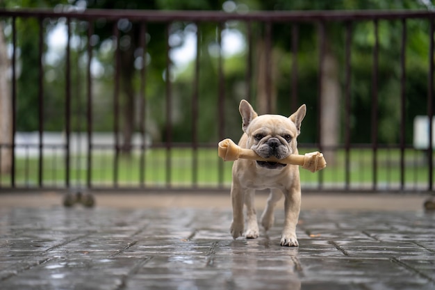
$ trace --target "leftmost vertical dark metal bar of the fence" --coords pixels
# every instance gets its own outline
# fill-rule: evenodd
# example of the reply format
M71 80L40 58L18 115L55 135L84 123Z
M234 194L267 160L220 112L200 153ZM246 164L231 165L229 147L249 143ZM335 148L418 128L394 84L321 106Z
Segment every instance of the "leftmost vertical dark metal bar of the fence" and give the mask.
M12 18L12 164L10 168L10 184L15 187L15 134L17 131L17 18Z

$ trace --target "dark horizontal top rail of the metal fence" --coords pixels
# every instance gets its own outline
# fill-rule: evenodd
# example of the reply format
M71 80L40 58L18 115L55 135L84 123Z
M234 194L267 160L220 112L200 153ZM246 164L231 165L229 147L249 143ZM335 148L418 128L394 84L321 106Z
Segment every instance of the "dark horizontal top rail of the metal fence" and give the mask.
M255 22L313 22L313 21L350 21L350 20L397 20L430 19L435 12L427 10L326 10L326 11L250 11L248 13L225 13L205 10L70 10L56 11L50 9L0 9L0 16L8 17L72 17L77 19L108 20L128 18L131 21L145 22L221 22L221 21L255 21Z

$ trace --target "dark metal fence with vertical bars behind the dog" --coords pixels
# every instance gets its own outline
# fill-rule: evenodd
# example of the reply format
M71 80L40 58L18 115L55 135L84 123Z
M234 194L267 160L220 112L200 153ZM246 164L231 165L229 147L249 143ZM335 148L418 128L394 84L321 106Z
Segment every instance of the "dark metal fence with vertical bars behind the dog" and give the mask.
M144 10L83 10L83 11L52 11L52 10L0 10L0 19L3 21L3 27L7 27L8 47L10 51L10 98L12 118L10 120L12 127L12 136L9 141L5 138L0 140L1 158L12 156L10 170L2 172L0 177L0 190L8 191L12 188L31 189L31 188L129 188L129 189L227 189L231 182L231 163L224 163L217 157L217 142L223 138L231 137L236 140L238 136L233 132L240 132L240 122L237 126L233 121L227 120L227 108L233 107L233 114L236 112L236 104L242 96L229 95L226 90L227 70L224 69L227 58L222 56L222 33L226 27L236 22L238 26L243 26L239 30L243 35L246 44L243 58L245 76L243 81L243 92L245 98L254 103L258 102L259 97L256 92L256 79L254 78L255 70L258 69L258 56L254 40L261 38L265 44L265 112L275 112L277 108L274 104L277 102L273 99L272 91L274 90L274 81L272 79L272 65L276 65L272 60L274 44L274 32L283 29L288 30L288 39L280 39L281 42L288 43L290 56L289 74L286 76L288 83L288 95L280 95L284 99L284 104L288 104L284 111L288 115L292 113L297 105L303 104L305 99L299 95L302 91L302 83L306 84L304 75L301 74L302 67L298 62L298 56L301 56L301 47L304 42L304 33L306 27L314 31L316 47L313 49L314 54L309 56L316 62L317 72L314 83L311 83L317 97L309 106L308 115L313 120L311 127L304 127L302 123L302 135L304 131L311 131L313 138L308 142L299 142L300 152L309 152L320 150L325 152L328 160L329 156L334 156L334 161L329 166L318 173L311 174L301 169L302 188L305 191L432 191L433 190L433 133L432 133L432 116L434 113L434 13L427 11L320 11L320 12L250 12L250 13L224 13L217 11L144 11ZM17 79L19 70L26 70L26 67L20 67L19 62L19 42L17 26L19 22L25 19L35 19L38 23L38 58L39 58L39 76L38 76L38 106L35 106L35 114L38 115L38 130L33 133L23 133L17 130L17 119L26 118L25 115L17 115L17 104L22 102L17 97L17 90L26 90L19 88ZM63 132L61 134L49 133L44 124L47 123L49 115L45 114L47 106L47 90L45 79L47 71L45 69L44 58L47 57L47 21L58 22L62 19L67 27L65 45L63 76L64 86L62 88L63 104L57 111L62 111L64 118ZM137 115L138 129L133 134L133 141L129 145L131 154L124 156L122 153L123 143L121 138L122 129L120 129L120 79L122 72L120 65L120 21L138 25L140 29L140 38L138 46L140 57L145 62L147 57L147 47L149 37L148 28L151 24L161 24L163 29L161 35L164 35L166 48L161 51L162 58L165 59L165 70L163 79L165 79L164 90L161 91L161 104L158 108L151 107L151 102L147 99L147 86L149 86L149 75L147 70L149 66L142 65L137 71L137 78L140 85L137 86L136 96L139 100ZM110 112L112 114L113 126L112 131L102 134L95 127L95 111L101 105L101 100L95 99L95 77L92 76L93 56L93 39L96 37L96 27L99 23L104 22L113 26L110 39L115 42L113 51L113 82L110 86L113 88ZM413 102L413 95L407 94L407 84L409 83L410 72L409 54L409 31L410 23L414 25L418 22L427 31L422 31L422 42L418 45L425 45L427 50L425 61L425 83L426 88L420 106L420 115L423 115L421 126L422 138L426 138L424 144L420 147L416 143L409 141L409 128L412 127L414 119L417 118L413 113L409 113L409 103ZM86 33L82 41L85 43L85 49L82 51L82 58L79 61L85 63L83 72L75 72L77 77L73 77L73 69L76 64L72 62L72 42L75 34L72 31L74 25L78 23L86 25ZM189 102L182 105L176 102L177 88L174 87L174 81L171 79L172 70L174 69L171 59L172 47L170 38L172 36L171 27L174 23L194 24L197 27L196 51L193 60L193 72L191 78L191 92ZM391 67L397 69L397 84L395 86L397 97L393 99L395 103L395 115L397 116L397 127L391 130L397 131L393 141L384 142L379 140L379 116L388 114L383 111L385 106L380 106L383 99L379 97L379 63L383 61L383 55L380 53L382 39L379 37L379 29L383 29L384 23L395 23L398 30L397 55ZM199 93L199 86L204 81L201 75L204 73L201 58L201 48L199 43L202 41L202 25L213 26L215 29L215 42L217 47L217 56L215 58L215 69L217 71L217 81L214 88L215 99L213 102L215 108L215 128L213 131L213 142L202 142L198 133L198 124L202 122L202 95ZM327 28L329 25L338 27L338 34L342 36L338 47L342 50L340 55L340 64L338 70L342 72L340 79L340 99L338 113L340 115L340 140L336 144L325 144L325 122L328 118L328 111L323 110L327 102L324 96L323 79L325 75L325 60L327 50L329 49L329 37ZM370 37L368 40L356 40L357 27L363 25L369 27ZM260 27L260 31L257 28ZM385 32L383 32L385 33ZM361 35L361 33L359 34ZM97 35L98 37L99 35ZM100 35L103 38L102 35ZM107 37L104 36L104 37ZM151 35L153 38L154 35ZM352 61L355 42L368 41L366 52L368 58L363 63ZM337 44L336 44L337 45ZM388 58L391 59L391 58ZM354 118L361 118L361 112L358 115L356 111L360 104L354 104L354 88L356 70L368 69L370 72L366 79L366 95L370 102L369 110L365 115L366 127L370 128L370 137L368 142L359 142L352 140L352 136L357 130L352 127ZM77 69L75 69L77 70ZM382 72L384 73L384 72ZM81 87L81 92L76 93L76 87ZM73 93L74 91L74 93ZM235 102L237 101L237 102ZM419 101L421 102L421 100ZM81 111L77 113L79 107ZM79 104L79 106L77 106ZM181 106L181 107L180 107ZM177 109L177 110L176 110ZM163 118L162 140L150 140L147 134L147 112L161 110ZM177 133L174 128L175 111L186 112L190 115L190 136L189 141L183 143L177 142L174 135ZM278 110L279 111L279 110ZM394 110L393 110L394 111ZM389 112L391 113L391 112ZM238 117L237 117L238 118ZM308 118L308 117L307 117ZM79 129L72 129L72 122L81 122ZM79 121L77 121L79 120ZM361 123L361 121L359 121ZM410 125L411 124L411 125ZM237 130L233 130L233 127ZM420 126L420 127L421 127ZM74 127L74 128L77 128ZM417 127L415 127L417 128ZM413 129L414 136L417 129ZM238 133L238 134L240 134ZM421 138L421 137L420 137ZM6 139L8 140L8 139ZM10 153L9 153L10 152ZM8 153L8 154L6 154ZM6 156L6 157L5 157ZM4 160L3 160L4 161Z

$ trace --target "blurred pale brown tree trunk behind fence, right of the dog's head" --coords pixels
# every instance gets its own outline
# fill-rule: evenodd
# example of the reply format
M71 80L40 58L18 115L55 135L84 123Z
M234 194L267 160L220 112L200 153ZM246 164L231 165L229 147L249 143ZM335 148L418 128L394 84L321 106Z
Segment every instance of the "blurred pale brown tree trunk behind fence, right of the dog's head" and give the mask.
M325 49L322 65L322 108L321 110L321 140L325 147L323 154L329 165L336 163L336 151L329 148L338 145L340 112L340 82L338 80L338 61L328 45Z

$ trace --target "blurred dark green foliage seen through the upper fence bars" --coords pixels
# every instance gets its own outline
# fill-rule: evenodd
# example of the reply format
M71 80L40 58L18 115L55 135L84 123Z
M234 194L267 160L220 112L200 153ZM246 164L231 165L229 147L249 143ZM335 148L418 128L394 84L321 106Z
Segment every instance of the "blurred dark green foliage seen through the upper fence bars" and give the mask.
M6 8L65 8L67 6L81 5L83 0L69 1L3 1L0 7ZM115 1L115 0L88 0L88 8L107 9L151 9L151 10L222 10L224 1L211 0L154 0L154 1ZM249 10L352 10L352 9L432 9L419 1L234 1L236 7L249 8ZM1 19L4 27L10 24L10 19ZM63 19L59 20L64 21ZM44 19L44 35L57 24L56 19ZM327 35L332 43L331 48L340 62L340 84L345 88L344 50L345 28L343 23L327 24ZM72 33L80 40L80 44L72 49L72 129L83 131L87 129L85 122L85 65L87 56L85 48L88 31L85 22L73 22ZM136 54L138 39L138 26L132 24L130 31L121 31L121 37L131 36L130 45ZM189 23L173 23L170 33L186 35ZM231 29L245 32L245 24L227 24ZM191 28L192 26L190 26ZM254 41L262 37L263 26L254 24ZM217 95L218 95L218 59L210 53L210 47L217 42L215 24L202 23L197 27L201 33L201 56L199 59L199 123L198 137L200 142L215 142L217 136ZM18 131L35 131L38 129L38 19L18 18L17 44L19 46L19 64L22 70L17 83L17 129ZM92 129L95 131L113 131L113 47L108 47L113 24L104 20L95 22L95 34L99 37L93 42L92 54L103 68L99 76L93 79L93 120ZM147 24L149 42L147 52L146 99L147 99L147 132L153 140L165 140L165 25ZM276 86L278 91L276 113L290 115L290 79L292 57L291 25L274 24L272 26L273 47L279 51L279 79ZM358 22L352 26L352 136L354 143L370 142L370 108L372 96L372 49L375 43L372 22ZM379 142L397 143L400 126L400 42L402 23L400 21L379 22ZM429 24L422 20L407 21L407 143L412 142L412 120L415 115L424 115L427 112L427 73L429 67ZM6 35L9 36L10 35ZM180 42L178 45L181 45ZM44 51L47 45L44 44ZM64 52L65 53L65 52ZM254 58L256 54L253 54ZM313 24L299 25L299 54L298 61L298 102L308 106L308 114L303 123L303 134L299 142L316 142L317 124L317 83L318 83L318 36L316 26ZM140 106L140 72L133 66L133 61L122 64L122 72L129 74L131 83L122 83L123 88L132 86L135 97L136 119L133 129L138 131L138 107ZM190 63L186 70L179 72L172 83L173 110L173 141L190 142L192 140L192 85L195 62ZM44 130L62 131L65 129L65 58L59 57L58 62L52 65L44 63ZM238 102L248 97L245 91L246 51L224 59L224 90L225 90L225 135L237 139L240 136L240 117L238 115ZM48 78L47 74L56 76ZM252 79L255 102L256 79ZM127 97L122 90L121 104L126 104ZM344 94L343 94L344 95ZM344 99L343 99L344 111ZM122 119L123 124L127 122ZM343 123L343 122L342 122ZM121 126L122 128L122 126ZM305 129L304 128L308 128ZM343 131L343 128L342 128ZM343 136L342 136L343 138Z

